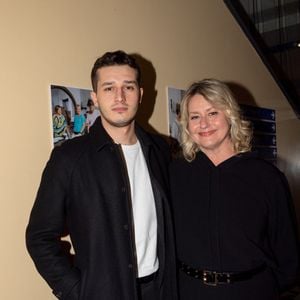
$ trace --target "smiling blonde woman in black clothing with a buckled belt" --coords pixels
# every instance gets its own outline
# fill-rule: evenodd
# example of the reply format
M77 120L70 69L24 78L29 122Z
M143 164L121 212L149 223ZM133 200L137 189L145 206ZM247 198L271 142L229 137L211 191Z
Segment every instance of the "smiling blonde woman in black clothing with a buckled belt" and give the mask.
M284 175L258 159L228 86L192 84L170 167L181 300L273 300L299 257Z

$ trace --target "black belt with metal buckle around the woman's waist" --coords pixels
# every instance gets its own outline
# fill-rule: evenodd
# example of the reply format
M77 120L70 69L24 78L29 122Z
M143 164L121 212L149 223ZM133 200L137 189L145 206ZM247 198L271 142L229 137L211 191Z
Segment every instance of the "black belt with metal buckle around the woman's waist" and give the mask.
M254 269L243 272L216 272L208 270L200 270L193 268L181 261L178 262L179 269L190 277L201 280L204 284L216 286L218 284L230 284L237 281L244 281L252 278L266 269L263 264Z

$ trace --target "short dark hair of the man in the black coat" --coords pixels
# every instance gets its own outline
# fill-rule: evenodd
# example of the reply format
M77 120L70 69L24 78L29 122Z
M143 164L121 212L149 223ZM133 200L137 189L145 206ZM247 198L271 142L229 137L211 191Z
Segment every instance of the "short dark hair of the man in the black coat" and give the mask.
M139 65L133 56L127 54L122 50L114 51L114 52L106 52L101 57L99 57L93 66L91 72L91 80L93 91L97 92L97 84L98 84L98 76L97 71L103 67L109 66L124 66L128 65L136 71L136 80L138 85L141 85L141 70Z

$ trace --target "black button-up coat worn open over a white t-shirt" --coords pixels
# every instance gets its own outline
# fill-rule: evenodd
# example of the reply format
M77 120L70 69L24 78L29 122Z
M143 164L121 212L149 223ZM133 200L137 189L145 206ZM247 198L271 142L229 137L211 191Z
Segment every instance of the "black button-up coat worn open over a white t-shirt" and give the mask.
M166 143L136 125L158 218L161 300L176 298ZM26 231L37 270L59 299L134 300L136 253L129 180L120 146L98 118L88 135L56 147L43 172ZM75 255L63 250L69 234ZM155 299L153 299L155 300Z

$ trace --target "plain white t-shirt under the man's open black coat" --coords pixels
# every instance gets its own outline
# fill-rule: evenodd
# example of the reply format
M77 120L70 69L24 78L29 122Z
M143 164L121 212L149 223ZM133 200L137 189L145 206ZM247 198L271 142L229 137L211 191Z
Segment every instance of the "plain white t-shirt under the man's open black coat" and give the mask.
M148 167L139 142L122 145L131 187L138 277L158 270L157 218Z

